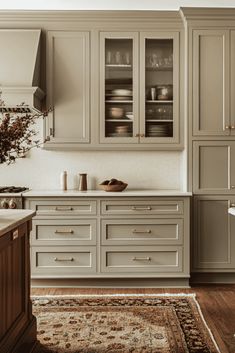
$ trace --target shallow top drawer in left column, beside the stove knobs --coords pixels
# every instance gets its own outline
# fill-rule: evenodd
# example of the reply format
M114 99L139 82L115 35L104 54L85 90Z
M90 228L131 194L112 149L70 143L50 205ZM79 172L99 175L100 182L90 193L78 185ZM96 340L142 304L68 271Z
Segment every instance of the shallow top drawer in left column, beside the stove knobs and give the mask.
M96 215L95 200L42 199L29 201L28 207L37 211L37 216L85 216Z

